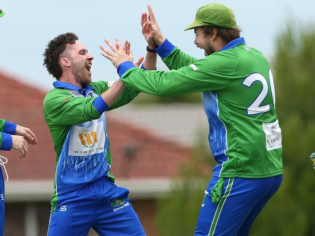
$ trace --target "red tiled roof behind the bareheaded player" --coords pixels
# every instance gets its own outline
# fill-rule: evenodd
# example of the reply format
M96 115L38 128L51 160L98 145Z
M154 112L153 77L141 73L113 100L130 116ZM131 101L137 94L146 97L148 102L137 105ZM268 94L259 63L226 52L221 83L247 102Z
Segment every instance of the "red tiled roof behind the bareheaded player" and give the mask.
M52 179L56 157L49 129L43 116L45 92L23 84L0 72L0 118L26 126L35 133L38 144L29 145L27 157L0 151L8 157L6 168L11 180ZM108 113L108 136L116 178L176 176L181 163L190 157L190 148L164 140L149 129L116 120Z

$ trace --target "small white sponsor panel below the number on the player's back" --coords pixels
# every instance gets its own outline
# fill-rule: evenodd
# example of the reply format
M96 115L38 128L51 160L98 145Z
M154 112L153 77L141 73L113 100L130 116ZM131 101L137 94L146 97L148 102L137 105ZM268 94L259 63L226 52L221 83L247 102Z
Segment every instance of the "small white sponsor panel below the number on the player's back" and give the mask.
M263 130L266 136L266 148L268 151L282 147L282 135L279 121L273 123L264 123Z

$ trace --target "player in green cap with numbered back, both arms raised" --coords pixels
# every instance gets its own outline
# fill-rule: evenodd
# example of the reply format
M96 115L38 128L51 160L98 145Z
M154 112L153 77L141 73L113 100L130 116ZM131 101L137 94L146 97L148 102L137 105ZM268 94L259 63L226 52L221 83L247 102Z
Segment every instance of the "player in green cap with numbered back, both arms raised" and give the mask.
M270 66L240 37L225 5L200 7L185 29L195 31L194 43L205 55L200 60L173 46L148 9L146 24L169 72L135 67L107 39L112 51L100 46L101 54L117 68L121 81L137 91L159 96L202 92L218 164L205 190L195 236L249 235L250 225L282 182L282 135Z

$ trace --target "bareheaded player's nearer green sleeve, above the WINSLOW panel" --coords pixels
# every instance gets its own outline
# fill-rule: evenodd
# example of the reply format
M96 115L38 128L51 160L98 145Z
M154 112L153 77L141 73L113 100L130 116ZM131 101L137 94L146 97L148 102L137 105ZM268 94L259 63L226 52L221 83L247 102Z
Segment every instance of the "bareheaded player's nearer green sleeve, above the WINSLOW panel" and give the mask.
M53 89L44 98L44 116L54 125L81 124L100 117L93 105L96 97L74 97L64 89Z

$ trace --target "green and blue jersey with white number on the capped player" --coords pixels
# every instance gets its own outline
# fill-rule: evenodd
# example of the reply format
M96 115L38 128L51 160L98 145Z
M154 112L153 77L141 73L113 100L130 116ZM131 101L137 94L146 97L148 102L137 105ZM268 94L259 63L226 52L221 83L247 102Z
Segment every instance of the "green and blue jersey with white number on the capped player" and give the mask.
M196 59L165 41L156 48L170 71L121 63L121 80L158 96L202 92L209 143L218 164L214 176L265 178L282 174L282 134L270 66L244 38Z

